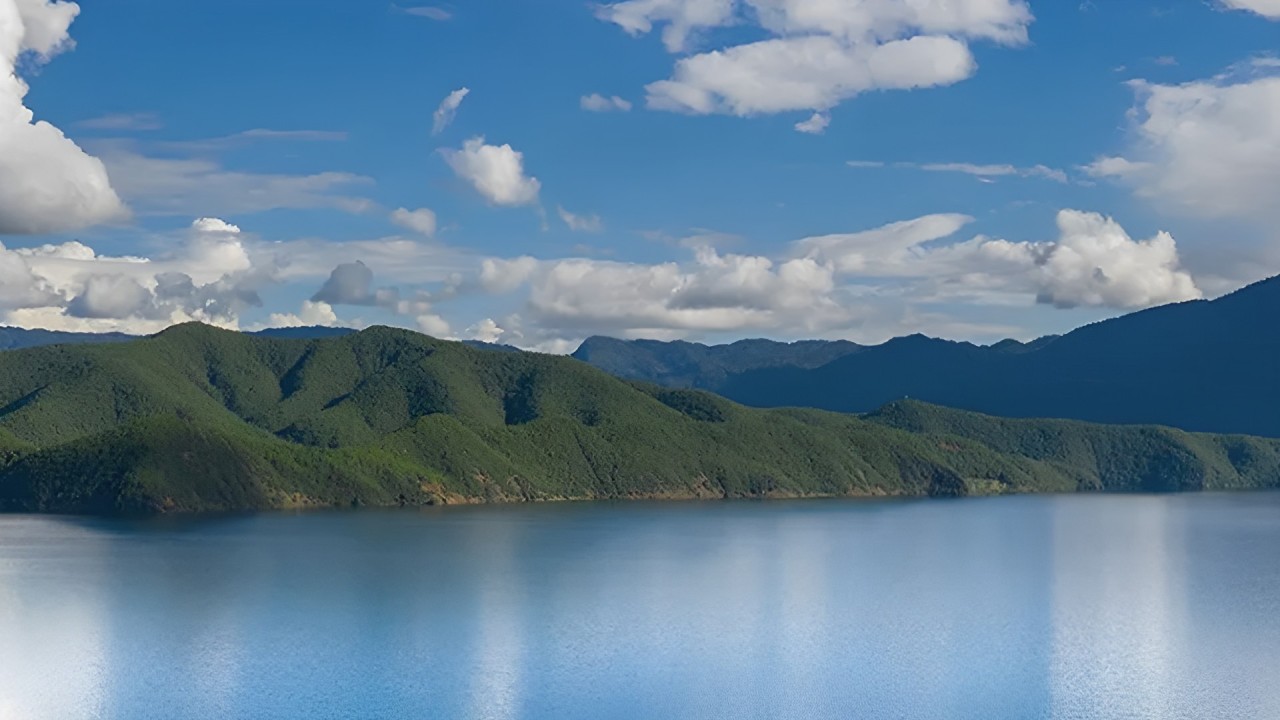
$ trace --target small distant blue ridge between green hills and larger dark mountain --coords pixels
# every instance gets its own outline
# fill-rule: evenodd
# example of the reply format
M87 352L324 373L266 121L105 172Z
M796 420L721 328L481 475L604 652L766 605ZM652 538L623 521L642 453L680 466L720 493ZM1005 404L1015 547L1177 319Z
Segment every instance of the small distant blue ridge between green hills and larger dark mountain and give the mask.
M716 389L737 373L762 368L819 368L861 350L863 346L847 341L786 343L742 340L732 345L707 346L684 341L590 337L579 346L573 357L630 380Z

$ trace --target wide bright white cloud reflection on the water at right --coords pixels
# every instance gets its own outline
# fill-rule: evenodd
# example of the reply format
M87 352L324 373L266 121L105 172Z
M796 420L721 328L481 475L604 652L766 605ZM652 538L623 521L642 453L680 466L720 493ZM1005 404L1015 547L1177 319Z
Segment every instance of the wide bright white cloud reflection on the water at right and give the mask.
M1171 706L1184 696L1179 683L1197 682L1175 667L1189 621L1176 512L1169 502L1132 497L1055 510L1056 717L1198 716Z

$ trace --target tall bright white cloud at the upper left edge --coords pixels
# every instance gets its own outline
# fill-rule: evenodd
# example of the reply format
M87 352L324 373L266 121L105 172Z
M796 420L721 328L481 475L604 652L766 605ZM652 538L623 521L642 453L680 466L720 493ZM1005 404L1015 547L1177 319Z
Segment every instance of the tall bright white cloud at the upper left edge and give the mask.
M116 222L128 210L102 163L24 105L19 59L69 49L79 5L0 0L0 234L42 234Z

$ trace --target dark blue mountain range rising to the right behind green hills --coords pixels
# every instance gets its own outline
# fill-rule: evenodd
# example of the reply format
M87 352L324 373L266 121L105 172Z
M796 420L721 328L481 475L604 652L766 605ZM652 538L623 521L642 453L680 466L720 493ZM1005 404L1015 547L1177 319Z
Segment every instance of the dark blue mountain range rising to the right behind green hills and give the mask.
M1032 343L982 347L911 336L817 368L792 363L726 372L722 364L694 364L645 377L675 387L695 378L695 387L756 407L868 413L910 397L1012 418L1280 437L1276 316L1280 278L1213 301L1155 307ZM653 368L653 357L694 357L676 343L608 347L605 363L595 352L579 356L622 377L636 377L632 368Z

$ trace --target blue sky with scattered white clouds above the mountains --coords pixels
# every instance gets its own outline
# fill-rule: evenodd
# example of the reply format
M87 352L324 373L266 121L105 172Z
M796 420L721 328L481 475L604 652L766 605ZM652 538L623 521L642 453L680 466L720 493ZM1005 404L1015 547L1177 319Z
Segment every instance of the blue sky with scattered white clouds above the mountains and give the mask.
M0 324L995 342L1280 273L1280 0L0 0Z

